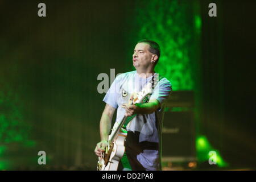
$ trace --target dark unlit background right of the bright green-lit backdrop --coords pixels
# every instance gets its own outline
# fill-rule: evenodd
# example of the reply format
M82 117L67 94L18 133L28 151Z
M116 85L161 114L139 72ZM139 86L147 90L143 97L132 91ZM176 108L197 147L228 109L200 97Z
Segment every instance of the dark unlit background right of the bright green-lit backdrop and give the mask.
M203 128L233 166L255 168L255 2L220 5L221 19L203 16Z

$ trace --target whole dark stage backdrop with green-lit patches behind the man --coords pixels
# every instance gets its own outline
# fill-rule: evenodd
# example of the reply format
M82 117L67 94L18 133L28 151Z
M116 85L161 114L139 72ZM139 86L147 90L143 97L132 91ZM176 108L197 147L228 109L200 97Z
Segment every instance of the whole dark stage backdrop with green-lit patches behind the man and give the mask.
M133 71L133 49L144 38L162 48L156 71L174 91L195 95L202 168L211 167L210 150L218 167L255 167L253 50L245 47L255 38L254 6L216 1L210 18L210 2L44 1L39 17L40 1L1 1L0 169L96 169L105 106L98 75L106 73L110 86L110 69ZM38 164L39 151L46 165Z

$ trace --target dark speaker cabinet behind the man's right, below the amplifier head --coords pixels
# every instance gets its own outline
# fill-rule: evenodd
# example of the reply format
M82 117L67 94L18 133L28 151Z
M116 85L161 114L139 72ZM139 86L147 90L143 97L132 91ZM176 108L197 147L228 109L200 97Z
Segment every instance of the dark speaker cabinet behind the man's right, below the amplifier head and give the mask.
M163 158L195 158L193 111L166 111L162 132Z

